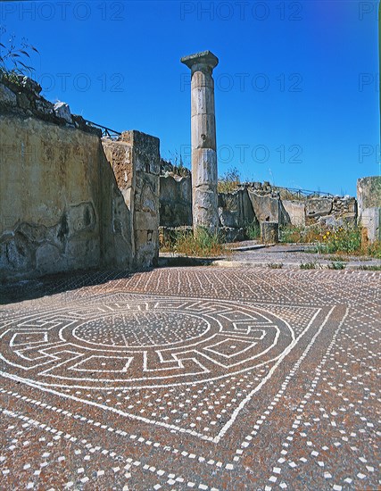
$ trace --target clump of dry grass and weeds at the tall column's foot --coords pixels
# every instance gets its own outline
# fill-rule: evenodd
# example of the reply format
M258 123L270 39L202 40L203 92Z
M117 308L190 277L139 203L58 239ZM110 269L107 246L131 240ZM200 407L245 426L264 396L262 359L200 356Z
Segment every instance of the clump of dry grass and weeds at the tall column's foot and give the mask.
M215 257L228 253L222 236L218 232L211 233L203 228L195 231L189 229L173 231L170 239L162 246L162 250L197 257Z

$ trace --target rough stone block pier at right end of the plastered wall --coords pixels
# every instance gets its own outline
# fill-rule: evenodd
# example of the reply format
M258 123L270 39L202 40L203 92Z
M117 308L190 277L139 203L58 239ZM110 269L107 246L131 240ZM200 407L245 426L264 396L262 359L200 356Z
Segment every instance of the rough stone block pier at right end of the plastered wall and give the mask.
M133 264L151 266L159 255L159 138L130 130L102 143L130 213Z

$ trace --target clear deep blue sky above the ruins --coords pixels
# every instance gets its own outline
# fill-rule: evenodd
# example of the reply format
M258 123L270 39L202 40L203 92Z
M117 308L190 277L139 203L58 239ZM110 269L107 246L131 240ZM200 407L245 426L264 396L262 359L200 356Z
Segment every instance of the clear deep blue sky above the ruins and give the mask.
M355 194L379 165L378 2L2 2L37 46L44 96L112 129L161 139L190 164L189 70L214 71L219 174Z

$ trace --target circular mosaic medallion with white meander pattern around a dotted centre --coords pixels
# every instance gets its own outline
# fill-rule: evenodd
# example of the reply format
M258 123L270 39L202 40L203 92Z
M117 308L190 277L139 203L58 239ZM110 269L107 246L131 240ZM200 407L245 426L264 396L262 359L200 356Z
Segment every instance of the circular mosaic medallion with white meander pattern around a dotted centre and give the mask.
M9 370L54 387L158 387L220 379L277 360L294 332L271 312L223 301L110 295L14 320Z

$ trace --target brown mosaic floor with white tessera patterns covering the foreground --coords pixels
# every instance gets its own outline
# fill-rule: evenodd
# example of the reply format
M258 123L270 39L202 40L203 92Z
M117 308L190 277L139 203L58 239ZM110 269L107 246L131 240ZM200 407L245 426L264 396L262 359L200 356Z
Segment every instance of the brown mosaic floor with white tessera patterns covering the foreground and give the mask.
M379 488L380 292L212 267L1 289L0 487Z

